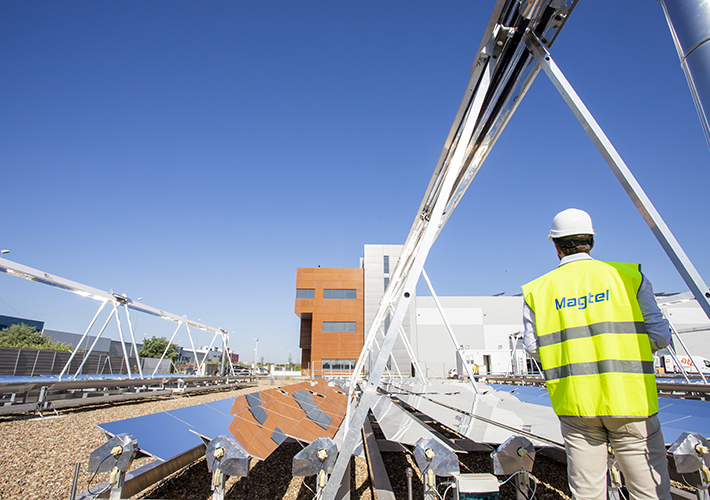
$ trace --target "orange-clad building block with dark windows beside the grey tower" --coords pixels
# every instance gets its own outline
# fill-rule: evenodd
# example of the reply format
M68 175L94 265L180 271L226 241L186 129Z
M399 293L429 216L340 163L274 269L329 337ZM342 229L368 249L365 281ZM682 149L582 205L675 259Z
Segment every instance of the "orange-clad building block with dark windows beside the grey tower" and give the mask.
M364 339L363 270L298 268L295 312L303 373L350 373Z

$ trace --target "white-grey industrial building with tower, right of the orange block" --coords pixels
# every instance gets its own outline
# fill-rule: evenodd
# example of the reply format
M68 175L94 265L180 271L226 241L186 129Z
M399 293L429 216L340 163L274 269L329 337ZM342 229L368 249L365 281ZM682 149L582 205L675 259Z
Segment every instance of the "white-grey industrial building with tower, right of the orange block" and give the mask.
M360 259L365 280L365 334L377 314L401 250L402 245L365 245L364 257ZM522 296L438 298L459 345L463 346L467 363L475 365L480 374L520 373L534 367L524 354L519 336L523 328ZM663 296L658 301L688 350L694 356L710 359L710 346L705 341L710 321L692 294ZM429 378L446 377L453 368L461 373L456 347L434 298L417 296L412 304L415 308L410 307L402 329L421 370ZM377 342L381 340L380 335ZM676 351L682 355L682 346L675 344ZM378 344L373 351L379 351ZM369 363L366 366L370 366ZM412 362L400 338L392 350L389 370L390 373L412 374Z

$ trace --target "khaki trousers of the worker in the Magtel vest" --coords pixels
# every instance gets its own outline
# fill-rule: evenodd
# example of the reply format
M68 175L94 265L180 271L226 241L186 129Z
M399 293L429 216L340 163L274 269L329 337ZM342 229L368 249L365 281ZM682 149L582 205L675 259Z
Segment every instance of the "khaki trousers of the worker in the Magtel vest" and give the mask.
M614 450L631 500L670 500L666 447L658 416L560 417L567 475L575 500L607 498L607 443Z

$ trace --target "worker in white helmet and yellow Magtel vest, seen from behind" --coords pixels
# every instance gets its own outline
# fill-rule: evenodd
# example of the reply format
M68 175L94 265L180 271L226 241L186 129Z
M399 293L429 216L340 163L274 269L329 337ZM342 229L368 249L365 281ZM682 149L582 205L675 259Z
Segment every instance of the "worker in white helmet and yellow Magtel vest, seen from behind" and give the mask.
M560 264L522 287L523 342L542 364L575 500L607 497L607 443L632 500L670 500L653 366L670 328L640 265L590 257L595 234L582 210L555 216Z

